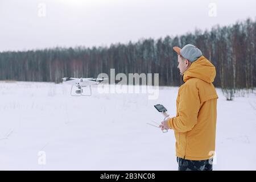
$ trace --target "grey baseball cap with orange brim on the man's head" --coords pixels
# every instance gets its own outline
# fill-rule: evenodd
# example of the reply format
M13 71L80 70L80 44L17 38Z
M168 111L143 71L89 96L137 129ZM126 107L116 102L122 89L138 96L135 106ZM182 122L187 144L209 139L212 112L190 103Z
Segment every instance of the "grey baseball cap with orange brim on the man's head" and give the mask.
M203 53L200 51L200 49L196 46L193 46L192 44L187 44L182 49L179 47L174 47L174 51L192 63L193 61L199 59L199 57L203 56Z

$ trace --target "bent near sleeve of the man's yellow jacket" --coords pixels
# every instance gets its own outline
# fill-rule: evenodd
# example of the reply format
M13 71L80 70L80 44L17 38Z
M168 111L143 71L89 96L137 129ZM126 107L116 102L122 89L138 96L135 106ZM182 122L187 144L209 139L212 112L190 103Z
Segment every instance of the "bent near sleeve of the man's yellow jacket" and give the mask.
M180 89L177 117L168 120L168 126L177 132L187 132L197 123L200 110L199 90L196 85L185 84Z

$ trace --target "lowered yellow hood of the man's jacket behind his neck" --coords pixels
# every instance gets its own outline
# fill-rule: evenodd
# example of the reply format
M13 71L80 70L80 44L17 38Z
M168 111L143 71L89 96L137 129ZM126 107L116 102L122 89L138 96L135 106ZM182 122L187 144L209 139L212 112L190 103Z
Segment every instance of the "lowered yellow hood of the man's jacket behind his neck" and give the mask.
M216 76L216 68L204 56L199 57L183 74L183 81L189 78L199 78L208 83L213 82Z

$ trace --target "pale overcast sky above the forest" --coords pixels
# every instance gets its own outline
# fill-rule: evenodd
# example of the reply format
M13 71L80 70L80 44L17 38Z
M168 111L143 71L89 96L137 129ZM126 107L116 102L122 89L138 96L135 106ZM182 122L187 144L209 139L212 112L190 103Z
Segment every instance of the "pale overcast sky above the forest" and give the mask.
M0 51L164 38L255 19L255 7L255 0L0 0Z

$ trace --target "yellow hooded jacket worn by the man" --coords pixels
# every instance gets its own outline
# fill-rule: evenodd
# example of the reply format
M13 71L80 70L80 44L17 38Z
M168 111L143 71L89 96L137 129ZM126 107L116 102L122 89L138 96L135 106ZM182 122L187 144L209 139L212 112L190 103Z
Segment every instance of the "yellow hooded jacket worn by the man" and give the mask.
M168 120L175 131L176 156L207 160L215 151L217 93L212 84L216 69L204 56L184 72L176 100L176 117Z

